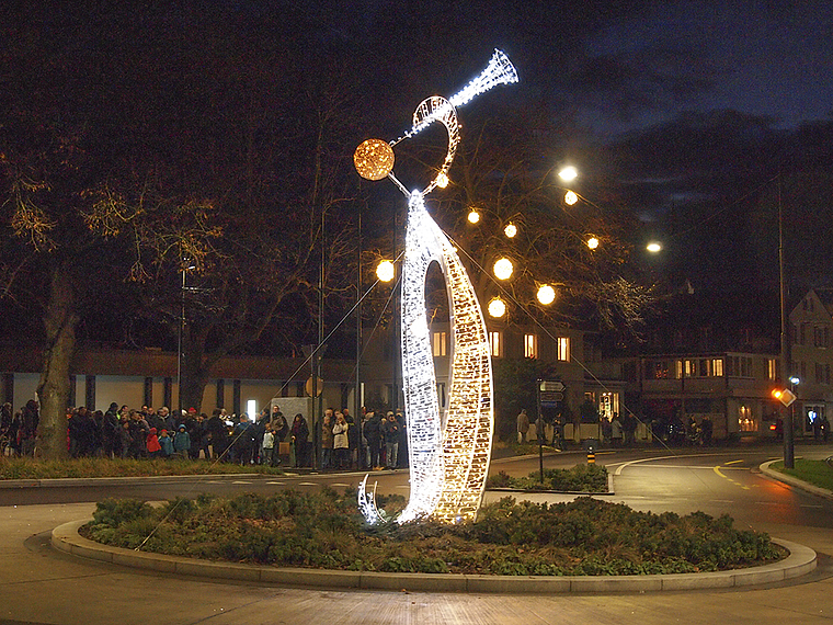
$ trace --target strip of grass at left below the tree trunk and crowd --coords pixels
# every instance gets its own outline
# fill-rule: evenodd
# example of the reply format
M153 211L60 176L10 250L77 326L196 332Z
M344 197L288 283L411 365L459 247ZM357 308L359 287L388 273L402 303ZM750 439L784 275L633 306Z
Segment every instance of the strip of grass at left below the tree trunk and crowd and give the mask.
M283 475L281 468L184 459L69 458L45 461L0 456L0 479L54 479L62 477L151 477L220 474Z

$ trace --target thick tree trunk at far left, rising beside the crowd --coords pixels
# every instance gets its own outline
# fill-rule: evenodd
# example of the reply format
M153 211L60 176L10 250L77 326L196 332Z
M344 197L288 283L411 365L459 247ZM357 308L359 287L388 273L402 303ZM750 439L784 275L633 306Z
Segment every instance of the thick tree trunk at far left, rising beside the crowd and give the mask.
M76 292L62 264L52 268L49 298L44 327L46 350L37 385L41 421L37 427L38 447L43 457L67 457L67 406L69 405L69 363L76 350Z

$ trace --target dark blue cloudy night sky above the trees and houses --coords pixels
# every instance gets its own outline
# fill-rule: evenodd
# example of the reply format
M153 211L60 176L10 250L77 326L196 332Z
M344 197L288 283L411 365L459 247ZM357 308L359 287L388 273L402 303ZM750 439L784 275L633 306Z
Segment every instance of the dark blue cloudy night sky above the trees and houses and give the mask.
M102 3L84 4L92 26ZM0 18L41 5L13 0ZM55 29L61 7L50 15ZM791 263L818 265L807 284L833 272L831 219L818 219L833 212L833 1L179 0L153 11L166 7L184 15L170 20L166 37L176 29L187 37L189 19L210 9L252 37L292 37L294 50L347 59L353 95L374 112L356 144L392 138L422 99L454 93L503 49L521 82L483 98L463 123L506 107L518 123L552 120L562 132L540 171L572 161L582 194L638 215L635 245L666 242L660 271L715 284L772 282L772 271L756 268L772 268L777 178L795 226ZM145 9L130 10L140 21ZM345 157L354 147L344 146ZM797 189L807 196L790 196Z

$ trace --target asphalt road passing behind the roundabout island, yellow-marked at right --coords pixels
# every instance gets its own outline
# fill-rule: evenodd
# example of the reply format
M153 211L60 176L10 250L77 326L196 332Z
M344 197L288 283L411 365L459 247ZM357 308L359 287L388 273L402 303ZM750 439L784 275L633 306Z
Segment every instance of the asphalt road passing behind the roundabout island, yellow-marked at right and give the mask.
M833 446L799 446L802 455L826 457ZM614 475L615 497L636 510L687 514L703 511L712 516L729 514L739 525L769 524L833 529L833 501L773 481L758 466L779 457L776 446L728 448L603 450L596 463ZM585 454L547 454L545 468L567 468L586 462ZM538 457L511 457L492 462L491 473L525 476L539 468ZM236 476L153 480L124 486L69 486L0 489L0 505L95 502L109 497L135 497L150 501L194 497L201 492L228 495L240 491L274 492L283 488L335 489L358 485L364 473L293 474L281 477ZM408 471L373 473L370 484L379 492L408 496Z

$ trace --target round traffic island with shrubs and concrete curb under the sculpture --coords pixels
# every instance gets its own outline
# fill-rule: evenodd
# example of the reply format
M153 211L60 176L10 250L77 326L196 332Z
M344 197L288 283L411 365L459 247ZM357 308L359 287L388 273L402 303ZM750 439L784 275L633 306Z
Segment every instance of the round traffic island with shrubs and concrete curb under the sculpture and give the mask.
M730 588L815 568L807 547L740 531L729 516L636 512L581 497L504 498L477 522L368 526L354 493L201 496L151 507L99 503L56 527L53 545L158 572L274 584L459 592L603 592ZM391 516L402 498L380 498Z

